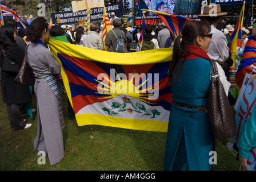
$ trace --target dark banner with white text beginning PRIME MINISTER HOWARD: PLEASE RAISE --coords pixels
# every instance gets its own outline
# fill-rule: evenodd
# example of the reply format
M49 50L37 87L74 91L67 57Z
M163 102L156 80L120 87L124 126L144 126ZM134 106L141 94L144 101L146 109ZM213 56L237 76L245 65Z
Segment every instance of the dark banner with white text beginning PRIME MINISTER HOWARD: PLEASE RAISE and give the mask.
M97 7L90 10L91 22L102 21L104 7ZM111 5L106 5L107 15L110 17L111 12L114 12L118 17L123 16L123 3L118 2ZM57 22L57 19L61 20L59 24L75 24L78 20L86 20L87 22L87 10L82 11L65 11L60 13L51 13L51 19L53 22Z

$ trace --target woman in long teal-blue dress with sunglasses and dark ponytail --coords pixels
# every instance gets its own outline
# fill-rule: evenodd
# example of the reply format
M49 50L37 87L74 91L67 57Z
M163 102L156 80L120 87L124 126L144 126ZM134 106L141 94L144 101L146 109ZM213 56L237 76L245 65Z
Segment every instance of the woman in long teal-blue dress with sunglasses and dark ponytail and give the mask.
M165 170L213 170L214 135L207 119L211 63L210 24L190 21L174 40L169 80L173 90L165 151Z

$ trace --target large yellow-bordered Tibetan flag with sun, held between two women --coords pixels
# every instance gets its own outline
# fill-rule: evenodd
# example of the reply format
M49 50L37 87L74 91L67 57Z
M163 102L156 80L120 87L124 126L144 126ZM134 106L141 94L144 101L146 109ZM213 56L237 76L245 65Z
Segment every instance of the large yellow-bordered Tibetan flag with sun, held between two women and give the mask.
M49 39L78 126L166 132L172 48L115 53Z

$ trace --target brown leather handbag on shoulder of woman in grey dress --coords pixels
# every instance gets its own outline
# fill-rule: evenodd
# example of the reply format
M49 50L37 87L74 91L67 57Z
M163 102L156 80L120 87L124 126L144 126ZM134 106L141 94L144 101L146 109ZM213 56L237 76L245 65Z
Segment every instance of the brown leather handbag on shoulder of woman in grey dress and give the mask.
M27 63L27 48L26 47L25 55L23 58L23 62L21 65L21 68L19 69L19 72L17 76L14 79L14 82L17 84L23 84L28 86L33 86L35 83L35 76L33 73L33 70L31 69L30 65Z

